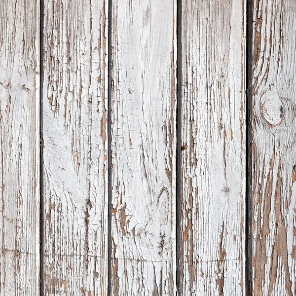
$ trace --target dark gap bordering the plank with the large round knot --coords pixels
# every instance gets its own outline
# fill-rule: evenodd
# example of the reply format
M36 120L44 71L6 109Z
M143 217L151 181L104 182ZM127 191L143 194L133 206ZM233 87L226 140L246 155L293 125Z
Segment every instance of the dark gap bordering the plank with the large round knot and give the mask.
M252 276L252 179L251 179L251 116L252 116L252 56L253 56L253 2L247 1L247 46L246 46L246 296L249 296Z

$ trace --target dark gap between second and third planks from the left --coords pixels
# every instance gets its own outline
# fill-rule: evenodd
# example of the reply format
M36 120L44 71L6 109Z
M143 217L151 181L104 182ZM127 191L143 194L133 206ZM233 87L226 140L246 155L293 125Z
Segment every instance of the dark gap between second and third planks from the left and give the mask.
M112 284L112 239L111 239L111 222L112 222L112 213L111 213L111 197L112 197L112 175L111 175L111 87L112 87L112 0L109 0L108 3L108 288L107 295L111 296L111 284Z

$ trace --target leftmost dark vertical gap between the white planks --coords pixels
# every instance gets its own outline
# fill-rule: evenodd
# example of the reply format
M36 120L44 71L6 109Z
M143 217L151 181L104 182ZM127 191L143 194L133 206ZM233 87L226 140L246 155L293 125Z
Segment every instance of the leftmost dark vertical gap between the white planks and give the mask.
M43 192L43 28L44 28L44 0L40 0L40 27L39 27L39 67L40 67L40 81L39 81L39 137L40 137L40 205L39 205L39 295L44 295L44 192Z

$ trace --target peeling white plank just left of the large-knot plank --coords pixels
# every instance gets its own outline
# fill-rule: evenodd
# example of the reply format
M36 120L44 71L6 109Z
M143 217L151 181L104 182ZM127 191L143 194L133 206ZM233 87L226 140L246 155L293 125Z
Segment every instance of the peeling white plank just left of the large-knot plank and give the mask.
M182 5L181 295L245 295L244 1Z

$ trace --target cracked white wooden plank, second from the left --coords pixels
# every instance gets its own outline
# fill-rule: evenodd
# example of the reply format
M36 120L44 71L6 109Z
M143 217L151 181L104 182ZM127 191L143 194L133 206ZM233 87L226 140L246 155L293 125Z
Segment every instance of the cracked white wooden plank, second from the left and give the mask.
M45 295L107 295L107 17L44 1Z

